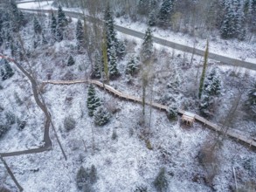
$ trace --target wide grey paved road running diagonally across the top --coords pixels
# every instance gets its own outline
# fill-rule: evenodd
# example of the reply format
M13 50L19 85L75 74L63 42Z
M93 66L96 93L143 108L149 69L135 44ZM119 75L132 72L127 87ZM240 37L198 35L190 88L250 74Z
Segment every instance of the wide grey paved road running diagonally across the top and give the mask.
M29 11L33 11L33 12L41 12L41 13L50 13L51 10L31 10L31 9L21 9L21 10L29 10ZM54 12L56 12L57 10L53 10ZM73 12L73 11L65 11L67 16L70 17L82 17L81 13L77 13L77 12ZM87 17L87 19L89 21L92 21L94 18L93 17ZM102 23L102 21L100 21L99 19L97 19L98 22ZM144 37L144 33L139 32L139 31L135 31L135 30L131 30L128 29L126 27L122 27L120 25L115 24L114 25L116 31L120 31L121 33L136 37L136 38L143 38ZM186 52L194 52L195 54L199 55L199 56L204 56L204 51L199 50L199 49L194 49L193 47L187 46L187 45L181 45L181 44L176 44L174 42L165 40L163 38L154 38L154 42L156 44L159 45L164 45L164 46L168 46L170 48L174 48L176 50L180 50L180 51L186 51ZM221 64L223 65L232 65L232 66L239 66L239 67L244 67L246 69L250 69L250 70L254 70L256 71L256 64L253 64L251 62L247 62L247 61L243 61L243 60L239 60L236 58L229 58L226 56L222 56L222 55L218 55L216 53L212 53L209 52L209 58L220 61Z

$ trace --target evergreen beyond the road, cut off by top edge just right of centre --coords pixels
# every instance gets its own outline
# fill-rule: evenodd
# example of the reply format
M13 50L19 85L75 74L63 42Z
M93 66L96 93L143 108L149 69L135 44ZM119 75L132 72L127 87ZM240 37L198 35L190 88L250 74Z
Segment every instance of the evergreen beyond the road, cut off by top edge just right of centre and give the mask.
M166 26L170 22L170 15L173 10L174 0L163 0L158 13L158 21L162 26Z

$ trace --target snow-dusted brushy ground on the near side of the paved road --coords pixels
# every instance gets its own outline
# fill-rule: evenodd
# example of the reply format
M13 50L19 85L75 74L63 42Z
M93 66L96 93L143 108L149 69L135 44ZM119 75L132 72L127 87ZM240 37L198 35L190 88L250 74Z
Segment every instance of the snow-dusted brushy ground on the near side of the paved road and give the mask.
M71 29L75 29L74 22L69 25ZM32 31L31 25L23 31L23 34L28 35L28 37L24 36L25 39L32 38L29 31ZM74 31L70 32L70 36L74 37ZM138 56L142 40L121 33L118 33L118 38L128 40L128 52L127 56L118 63L121 78L111 81L110 84L119 91L141 97L142 82L139 75L135 76L132 84L128 85L124 71L128 59L133 55ZM30 45L30 41L25 42L26 47ZM39 82L47 79L49 75L51 79L83 79L88 76L90 68L88 58L86 54L76 54L74 45L75 40L70 39L49 45L47 48L38 47L33 50L33 57L37 57L31 59L32 70ZM194 79L200 69L201 58L196 56L193 65L187 65L186 63L190 63L190 54L173 51L162 45L154 46L158 57L152 65L154 74L152 79L155 79L152 83L153 100L163 102L165 96L168 97L171 93L180 106L186 106L189 111L197 112L197 103L195 104L191 94L195 86ZM76 63L73 66L66 66L70 54L73 54ZM213 61L209 63L210 68L216 66ZM218 116L212 119L216 123L224 118L225 112L232 105L231 99L237 94L237 90L229 85L230 81L241 80L239 72L235 72L232 67L218 66L218 71L224 81L224 87L219 99L221 106L218 106ZM1 82L3 90L0 90L0 100L3 102L0 104L4 103L4 112L15 112L17 116L27 120L27 125L22 131L18 131L15 125L11 127L10 131L0 139L1 152L37 147L43 137L44 115L31 95L29 81L17 69L15 72L11 79ZM168 88L168 84L173 81L174 73L179 75L180 93L173 93L173 90ZM248 79L253 79L253 76L255 73L252 72ZM93 188L99 192L133 192L140 186L155 192L153 182L160 168L166 168L168 191L232 191L235 186L233 170L237 174L239 188L255 184L255 154L246 146L225 139L216 151L217 160L209 160L209 164L205 162L203 166L199 161L199 151L203 149L207 151L207 147L211 146L209 143L214 143L218 136L217 133L197 122L193 127L186 127L179 118L170 121L166 113L156 109L152 109L150 127L143 127L141 105L114 98L99 88L96 88L97 95L107 107L114 106L117 112L112 115L106 126L95 127L93 119L87 114L87 87L88 85L81 84L46 85L42 88L45 103L52 113L52 121L66 152L67 161L61 154L52 129L50 130L53 142L51 151L5 158L24 191L79 191L75 180L77 171L80 166L90 168L92 165L97 168L99 177ZM21 106L15 102L13 90L16 90L19 97L24 100ZM147 99L149 96L150 94L147 95ZM150 108L147 107L147 120L149 114ZM64 120L67 116L73 116L76 120L76 127L69 132L64 129ZM252 135L256 133L255 121L246 119L243 115L236 118L242 121L236 122L233 128ZM116 140L112 139L114 131L117 134ZM146 145L146 137L149 137L152 150ZM212 181L211 175L214 175ZM14 183L2 167L0 178L1 184L4 183L15 191Z

